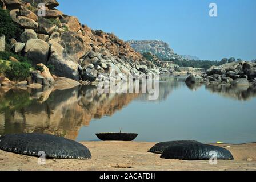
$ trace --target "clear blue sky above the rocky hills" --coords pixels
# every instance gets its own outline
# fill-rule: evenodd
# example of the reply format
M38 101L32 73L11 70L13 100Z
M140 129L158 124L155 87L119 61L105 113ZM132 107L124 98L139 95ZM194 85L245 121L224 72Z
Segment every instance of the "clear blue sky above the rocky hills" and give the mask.
M58 9L123 40L163 40L201 59L256 59L255 0L58 0ZM217 4L217 17L209 4Z

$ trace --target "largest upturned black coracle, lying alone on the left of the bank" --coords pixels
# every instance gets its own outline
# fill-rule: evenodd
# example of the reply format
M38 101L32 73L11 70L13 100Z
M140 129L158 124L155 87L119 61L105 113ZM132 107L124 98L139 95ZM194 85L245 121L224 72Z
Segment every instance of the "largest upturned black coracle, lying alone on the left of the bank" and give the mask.
M7 134L0 137L0 150L59 159L91 159L87 147L73 140L49 134Z

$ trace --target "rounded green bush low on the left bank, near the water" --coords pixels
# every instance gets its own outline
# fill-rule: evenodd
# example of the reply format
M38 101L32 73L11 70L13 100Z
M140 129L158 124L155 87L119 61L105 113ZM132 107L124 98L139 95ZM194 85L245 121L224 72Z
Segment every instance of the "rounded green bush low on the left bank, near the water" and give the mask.
M11 62L9 68L6 69L5 75L10 80L25 80L30 75L31 65L29 63Z

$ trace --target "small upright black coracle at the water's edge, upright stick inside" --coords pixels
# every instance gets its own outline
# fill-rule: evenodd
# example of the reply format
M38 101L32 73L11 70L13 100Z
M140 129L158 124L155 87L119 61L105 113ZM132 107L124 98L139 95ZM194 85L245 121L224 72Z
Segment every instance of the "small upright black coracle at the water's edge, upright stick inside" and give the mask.
M97 133L96 136L102 141L132 141L138 134L137 133Z

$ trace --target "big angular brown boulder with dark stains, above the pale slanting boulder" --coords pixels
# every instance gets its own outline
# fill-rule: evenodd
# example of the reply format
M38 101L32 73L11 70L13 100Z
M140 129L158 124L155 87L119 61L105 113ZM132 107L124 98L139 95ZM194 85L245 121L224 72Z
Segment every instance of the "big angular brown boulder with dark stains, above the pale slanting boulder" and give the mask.
M61 41L59 42L63 48L65 48L67 55L73 60L74 63L78 63L78 60L91 51L91 46L87 44L82 35L77 32L67 31L61 35Z

